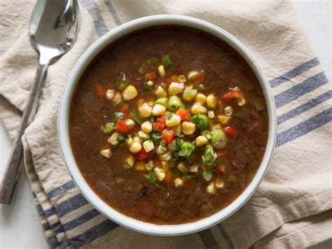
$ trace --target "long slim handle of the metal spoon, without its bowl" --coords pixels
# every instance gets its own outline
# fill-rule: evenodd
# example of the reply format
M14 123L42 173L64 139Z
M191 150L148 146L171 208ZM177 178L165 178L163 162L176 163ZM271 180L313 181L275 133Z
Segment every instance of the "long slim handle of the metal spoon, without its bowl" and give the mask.
M13 198L16 182L20 173L20 166L22 163L23 146L22 135L25 132L25 128L31 123L36 114L38 107L39 96L41 95L41 89L43 87L43 81L46 76L46 71L49 62L39 64L39 69L36 74L36 81L32 88L32 92L29 95L25 112L22 114L20 127L18 128L18 134L15 137L13 149L7 167L4 172L4 177L0 182L0 203L10 205Z

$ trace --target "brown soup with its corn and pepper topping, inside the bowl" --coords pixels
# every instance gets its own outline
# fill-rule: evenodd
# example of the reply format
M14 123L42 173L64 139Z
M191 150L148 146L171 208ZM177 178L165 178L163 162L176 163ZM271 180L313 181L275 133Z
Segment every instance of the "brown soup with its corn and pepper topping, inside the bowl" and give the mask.
M225 42L196 29L144 29L90 64L69 112L81 174L109 206L153 224L225 208L268 140L261 86Z

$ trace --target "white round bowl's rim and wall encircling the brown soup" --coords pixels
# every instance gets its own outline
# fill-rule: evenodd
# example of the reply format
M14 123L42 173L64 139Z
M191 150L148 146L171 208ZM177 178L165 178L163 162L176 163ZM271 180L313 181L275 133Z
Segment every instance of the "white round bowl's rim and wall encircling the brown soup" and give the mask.
M119 213L115 209L111 208L109 205L104 203L97 194L89 187L87 182L84 180L81 175L80 170L76 165L73 153L71 151L71 145L69 141L69 130L68 130L68 117L69 117L69 106L71 103L71 97L73 96L76 84L80 79L81 75L85 71L86 67L90 64L93 58L99 54L106 46L109 46L110 43L119 39L120 37L128 34L130 32L136 31L137 29L152 27L156 25L182 25L186 27L193 27L196 29L201 29L209 34L213 34L219 39L226 41L231 47L233 47L247 63L250 65L251 69L256 74L256 77L263 88L263 93L265 95L265 100L268 107L268 116L269 116L269 128L268 128L268 143L265 149L265 154L263 156L263 161L261 166L258 168L258 171L249 184L247 189L245 189L240 196L238 196L233 203L230 203L229 206L223 208L218 213L206 217L202 220L196 222L186 223L186 224L177 224L177 225L157 225L146 222L141 222L139 220L134 220L131 217L127 217L122 213ZM270 162L273 148L275 147L275 137L276 137L276 114L275 114L275 102L272 97L270 86L268 81L265 79L265 76L258 66L256 60L249 53L247 48L245 48L240 41L237 41L234 36L228 34L225 30L212 25L209 22L200 20L197 18L190 18L184 15L151 15L144 18L139 18L127 22L115 29L112 29L104 36L100 37L95 43L93 43L90 48L88 48L85 53L78 60L74 68L71 70L71 74L67 80L67 84L64 87L62 93L62 99L60 102L59 117L58 117L58 129L59 129L59 139L62 153L64 156L64 161L67 164L67 168L71 177L73 177L74 182L76 183L78 189L85 198L99 210L100 213L104 214L109 219L114 222L121 224L123 227L132 229L134 231L139 231L145 234L154 234L154 235L163 235L163 236L174 236L181 234L189 234L195 231L200 231L202 229L207 229L208 227L213 226L225 220L230 215L233 215L239 208L241 208L244 203L246 203L249 198L254 194L258 185L263 180L263 177L268 169L268 164Z

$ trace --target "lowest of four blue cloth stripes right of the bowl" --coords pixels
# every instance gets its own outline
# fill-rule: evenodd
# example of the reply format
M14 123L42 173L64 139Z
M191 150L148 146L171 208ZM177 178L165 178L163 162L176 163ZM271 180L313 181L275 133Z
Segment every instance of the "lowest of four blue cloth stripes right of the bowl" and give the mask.
M332 108L326 109L324 112L312 116L310 119L298 123L296 126L293 126L288 130L278 133L276 147L286 144L286 142L295 140L296 138L301 137L316 128L324 126L324 124L330 121L332 121Z

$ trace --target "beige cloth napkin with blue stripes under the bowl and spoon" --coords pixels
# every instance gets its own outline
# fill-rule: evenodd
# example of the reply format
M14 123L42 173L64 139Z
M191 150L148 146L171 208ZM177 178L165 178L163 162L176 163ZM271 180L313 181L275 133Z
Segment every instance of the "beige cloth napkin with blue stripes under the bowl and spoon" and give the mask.
M25 132L25 164L51 248L303 248L331 234L331 84L289 1L81 0L74 48L48 69L39 112ZM1 1L0 93L21 111L38 55L29 42L34 1ZM251 200L221 224L196 234L148 236L107 220L85 201L64 166L57 109L74 63L99 36L145 15L202 18L226 29L258 60L272 86L277 148ZM11 137L19 114L4 99Z

